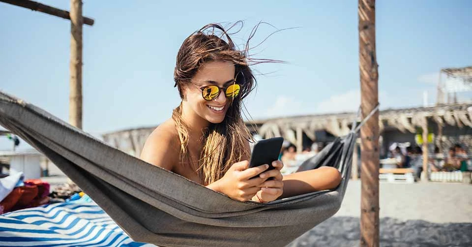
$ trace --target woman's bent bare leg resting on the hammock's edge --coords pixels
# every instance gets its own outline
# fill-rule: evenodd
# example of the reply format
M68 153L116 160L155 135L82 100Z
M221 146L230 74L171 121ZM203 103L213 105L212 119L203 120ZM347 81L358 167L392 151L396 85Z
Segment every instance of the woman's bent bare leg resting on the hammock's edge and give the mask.
M284 192L280 198L333 189L341 183L341 179L338 169L329 166L288 174L283 178Z

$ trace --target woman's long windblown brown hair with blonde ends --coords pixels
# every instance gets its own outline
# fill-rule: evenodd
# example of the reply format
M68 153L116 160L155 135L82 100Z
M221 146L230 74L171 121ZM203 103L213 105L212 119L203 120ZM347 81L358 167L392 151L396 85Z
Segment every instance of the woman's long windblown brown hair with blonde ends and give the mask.
M251 36L256 29L253 29ZM221 35L217 35L215 30L221 32ZM209 61L225 61L235 64L236 84L241 85L239 95L231 102L223 122L210 124L208 128L203 130L204 145L199 157L197 172L204 185L217 181L231 165L240 161L242 157L249 156L246 147L247 142L252 140L252 136L241 117L242 100L256 87L256 79L249 63L278 61L251 60L247 56L248 51L248 43L246 43L246 48L240 51L233 43L227 30L219 24L208 24L187 37L177 53L174 81L180 98L184 97L182 87L195 76L203 63ZM180 139L179 163L190 163L187 149L188 128L183 122L181 108L182 104L174 109L172 114Z

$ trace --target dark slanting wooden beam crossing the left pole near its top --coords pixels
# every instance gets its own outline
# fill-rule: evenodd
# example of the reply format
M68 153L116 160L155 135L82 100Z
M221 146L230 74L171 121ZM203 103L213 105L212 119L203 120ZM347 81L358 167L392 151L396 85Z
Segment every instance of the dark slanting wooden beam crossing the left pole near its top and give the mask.
M51 6L48 6L39 2L30 1L30 0L0 0L0 2L5 2L5 3L15 5L15 6L29 8L33 11L43 12L45 14L54 15L60 18L70 20L69 11L51 7ZM95 22L93 19L90 19L89 17L84 17L84 16L82 16L82 18L84 19L85 25L93 26L93 23Z

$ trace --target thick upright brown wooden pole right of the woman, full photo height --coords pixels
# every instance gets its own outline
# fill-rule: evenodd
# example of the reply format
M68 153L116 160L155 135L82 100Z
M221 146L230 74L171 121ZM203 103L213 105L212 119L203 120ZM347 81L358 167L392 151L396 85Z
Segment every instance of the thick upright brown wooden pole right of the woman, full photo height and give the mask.
M378 65L375 51L375 0L359 0L359 70L361 111L365 118L378 104ZM379 246L379 112L360 129L361 216L360 246Z

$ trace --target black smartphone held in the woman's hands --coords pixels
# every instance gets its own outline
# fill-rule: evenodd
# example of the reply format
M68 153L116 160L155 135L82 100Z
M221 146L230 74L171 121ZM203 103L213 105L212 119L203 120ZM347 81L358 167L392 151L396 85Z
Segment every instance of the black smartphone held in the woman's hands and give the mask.
M261 140L254 145L251 155L251 161L249 162L249 168L268 164L268 170L274 169L272 162L279 159L280 150L284 138L275 137L266 140Z

